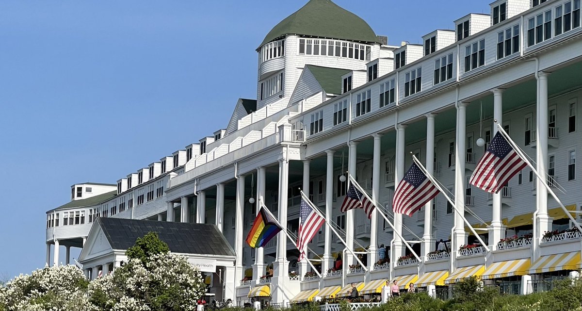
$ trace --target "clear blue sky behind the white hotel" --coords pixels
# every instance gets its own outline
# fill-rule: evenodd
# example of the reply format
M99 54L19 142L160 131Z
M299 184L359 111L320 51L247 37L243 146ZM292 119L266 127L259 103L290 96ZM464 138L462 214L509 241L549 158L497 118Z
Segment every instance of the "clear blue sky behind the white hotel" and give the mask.
M335 2L399 45L490 1ZM256 97L255 48L306 2L1 1L0 277L44 265L45 212L73 183L115 183L225 128Z

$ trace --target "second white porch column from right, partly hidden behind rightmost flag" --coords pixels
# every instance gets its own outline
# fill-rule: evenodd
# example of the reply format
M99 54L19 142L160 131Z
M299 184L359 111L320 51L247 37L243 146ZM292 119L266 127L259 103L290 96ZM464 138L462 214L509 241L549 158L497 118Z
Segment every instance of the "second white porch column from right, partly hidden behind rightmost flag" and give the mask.
M497 125L503 124L503 90L494 89L493 92L493 136L498 132ZM494 193L492 196L491 227L489 231L489 245L497 245L497 242L505 238L505 227L501 222L501 193Z

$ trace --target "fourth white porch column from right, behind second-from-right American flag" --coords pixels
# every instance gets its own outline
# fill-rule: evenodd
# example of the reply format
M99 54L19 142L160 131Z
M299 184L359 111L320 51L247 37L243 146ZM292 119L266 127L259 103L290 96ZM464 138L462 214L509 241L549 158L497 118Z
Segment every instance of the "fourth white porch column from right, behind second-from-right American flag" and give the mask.
M435 150L435 115L427 116L427 151L425 152L428 174L434 175L434 150ZM420 160L420 159L419 159ZM432 236L432 200L424 206L424 234L421 248L421 256L427 256L434 250L435 239Z

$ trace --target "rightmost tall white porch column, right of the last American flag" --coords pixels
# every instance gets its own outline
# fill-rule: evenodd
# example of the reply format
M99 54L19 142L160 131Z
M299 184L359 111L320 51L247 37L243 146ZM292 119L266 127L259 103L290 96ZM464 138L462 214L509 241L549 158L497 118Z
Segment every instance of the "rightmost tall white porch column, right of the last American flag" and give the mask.
M538 78L537 98L537 171L547 180L548 176L548 73L540 72ZM545 181L536 179L535 200L538 209L538 236L540 238L545 231L552 231L552 218L548 215L548 190L545 189Z

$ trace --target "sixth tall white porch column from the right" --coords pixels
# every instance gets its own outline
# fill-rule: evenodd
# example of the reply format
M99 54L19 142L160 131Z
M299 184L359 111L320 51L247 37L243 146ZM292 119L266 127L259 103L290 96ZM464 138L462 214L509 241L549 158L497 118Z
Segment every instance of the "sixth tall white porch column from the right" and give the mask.
M374 134L374 156L372 160L372 200L378 202L380 199L380 160L381 160L381 139L382 134ZM376 208L372 211L370 225L370 255L368 255L368 267L374 267L378 261L378 213Z

